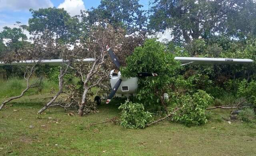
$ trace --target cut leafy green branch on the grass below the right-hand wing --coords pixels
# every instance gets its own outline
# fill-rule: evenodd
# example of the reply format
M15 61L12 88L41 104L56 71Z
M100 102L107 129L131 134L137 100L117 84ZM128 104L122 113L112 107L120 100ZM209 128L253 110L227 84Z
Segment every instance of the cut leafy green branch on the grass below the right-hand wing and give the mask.
M206 108L213 102L213 97L198 90L192 96L180 97L180 110L174 115L174 121L184 123L186 126L201 125L207 122Z

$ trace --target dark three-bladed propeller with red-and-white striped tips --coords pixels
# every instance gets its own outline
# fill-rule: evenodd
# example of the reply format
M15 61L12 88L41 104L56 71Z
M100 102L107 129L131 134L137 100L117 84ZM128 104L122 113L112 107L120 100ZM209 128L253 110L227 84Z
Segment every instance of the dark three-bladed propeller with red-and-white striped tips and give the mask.
M114 62L116 68L120 69L121 64L120 64L118 58L116 57L116 55L114 54L114 52L112 51L112 49L110 49L110 47L108 45L106 46L106 49L107 49L112 61ZM157 76L157 74L156 73L149 73L149 72L139 72L138 76L139 77ZM108 99L107 99L106 103L109 103L111 101L112 97L116 94L116 91L118 90L121 82L122 82L122 79L119 79L116 82L114 88L111 90L111 93L108 96Z

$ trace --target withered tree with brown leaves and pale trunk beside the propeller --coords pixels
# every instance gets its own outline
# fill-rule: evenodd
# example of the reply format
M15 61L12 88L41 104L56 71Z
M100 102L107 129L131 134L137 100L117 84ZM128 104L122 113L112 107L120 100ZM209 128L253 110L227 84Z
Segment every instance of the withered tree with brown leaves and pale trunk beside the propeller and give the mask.
M79 101L78 114L84 113L84 108L89 105L92 98L90 96L92 88L107 88L104 82L108 81L110 63L106 62L106 45L118 50L124 39L123 29L114 29L111 25L92 25L88 38L82 39L79 45L74 47L73 56L76 59L94 58L90 64L76 63L74 66L77 75L82 81L82 95ZM83 42L84 41L84 42Z

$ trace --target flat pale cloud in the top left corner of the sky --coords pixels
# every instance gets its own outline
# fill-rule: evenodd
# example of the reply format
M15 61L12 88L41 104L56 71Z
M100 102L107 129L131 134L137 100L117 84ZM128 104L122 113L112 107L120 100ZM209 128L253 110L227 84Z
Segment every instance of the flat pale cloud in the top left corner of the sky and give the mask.
M29 10L30 8L37 10L48 7L53 7L51 0L0 0L0 11L22 11Z

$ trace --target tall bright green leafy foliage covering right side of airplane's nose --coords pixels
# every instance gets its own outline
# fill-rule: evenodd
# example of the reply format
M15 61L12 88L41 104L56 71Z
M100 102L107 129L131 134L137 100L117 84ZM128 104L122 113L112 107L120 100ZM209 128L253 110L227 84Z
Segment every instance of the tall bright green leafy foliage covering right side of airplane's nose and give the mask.
M144 100L146 104L160 102L164 87L179 68L174 55L166 51L166 46L156 39L147 39L143 46L137 47L126 59L126 63L126 67L121 68L123 76L134 77L138 72L158 74L155 77L140 78L138 81L137 97L139 100Z

